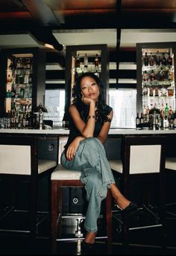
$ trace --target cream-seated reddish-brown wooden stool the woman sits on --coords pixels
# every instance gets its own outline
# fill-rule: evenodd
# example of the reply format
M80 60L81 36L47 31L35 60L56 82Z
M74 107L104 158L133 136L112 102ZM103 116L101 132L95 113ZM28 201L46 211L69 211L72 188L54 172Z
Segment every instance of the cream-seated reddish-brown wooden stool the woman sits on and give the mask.
M84 187L80 181L81 171L66 169L59 164L51 173L51 252L57 253L57 235L62 228L62 188ZM112 240L112 196L107 190L106 202L106 226L107 226L107 252L111 252ZM59 232L58 232L59 231Z

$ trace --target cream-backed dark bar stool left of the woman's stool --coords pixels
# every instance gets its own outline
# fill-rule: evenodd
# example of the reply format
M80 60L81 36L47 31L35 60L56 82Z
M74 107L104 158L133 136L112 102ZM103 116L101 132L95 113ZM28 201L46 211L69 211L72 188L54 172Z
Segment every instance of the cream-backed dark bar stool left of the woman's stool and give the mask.
M37 188L38 181L43 175L51 172L57 166L55 160L39 160L37 157L37 137L33 136L17 136L17 135L1 135L0 136L0 178L5 180L4 184L10 181L10 186L5 187L8 194L12 197L8 202L7 207L1 210L0 225L4 227L5 218L10 214L18 214L19 220L22 219L22 214L27 213L25 219L25 228L22 227L4 227L1 231L10 234L25 234L33 243L37 233ZM7 183L6 183L7 181ZM29 198L25 202L29 202L29 206L25 210L19 210L16 207L16 190L14 184L16 181L28 181L29 183ZM10 190L13 190L10 193ZM49 193L49 191L48 191ZM24 205L22 205L23 207ZM14 221L13 221L14 222Z

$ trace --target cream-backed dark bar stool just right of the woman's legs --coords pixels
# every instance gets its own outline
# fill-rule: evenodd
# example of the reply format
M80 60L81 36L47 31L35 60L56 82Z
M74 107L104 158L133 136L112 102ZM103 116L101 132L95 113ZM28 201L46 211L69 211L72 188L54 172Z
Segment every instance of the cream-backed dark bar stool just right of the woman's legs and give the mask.
M164 184L164 165L165 165L165 144L166 137L164 136L125 136L122 141L122 160L109 160L110 167L115 171L121 180L122 193L131 201L136 201L135 198L131 198L132 182L142 182L142 199L141 206L136 211L138 214L141 211L145 211L157 220L160 224L156 225L142 225L136 227L129 227L131 216L122 216L120 218L123 232L123 244L128 246L129 244L129 231L139 228L151 228L156 226L162 226L162 238L164 240L166 236L165 230L165 184ZM157 201L158 213L156 213L154 207L151 205L150 199L154 197L154 191L151 191L151 181L156 179L160 185L160 193ZM137 183L136 183L137 184ZM139 192L138 192L139 193ZM119 211L120 214L120 211ZM119 219L119 218L116 218ZM146 224L146 223L145 223ZM162 246L164 243L162 241Z

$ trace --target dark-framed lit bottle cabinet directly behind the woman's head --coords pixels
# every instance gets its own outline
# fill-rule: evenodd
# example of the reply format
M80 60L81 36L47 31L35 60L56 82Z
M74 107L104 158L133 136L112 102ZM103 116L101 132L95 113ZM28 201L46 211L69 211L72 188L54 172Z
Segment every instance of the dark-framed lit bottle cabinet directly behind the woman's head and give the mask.
M76 78L82 72L93 72L101 78L104 84L105 99L107 99L109 89L107 45L66 46L66 103L63 126L67 126L67 113L69 104L72 102L72 90Z

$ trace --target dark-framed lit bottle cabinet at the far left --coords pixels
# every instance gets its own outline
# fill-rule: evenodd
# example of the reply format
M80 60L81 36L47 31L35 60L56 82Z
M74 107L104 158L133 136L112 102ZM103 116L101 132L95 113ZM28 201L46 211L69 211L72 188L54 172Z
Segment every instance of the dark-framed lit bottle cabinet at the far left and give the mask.
M45 52L42 49L2 49L0 116L17 119L33 112L45 96Z

